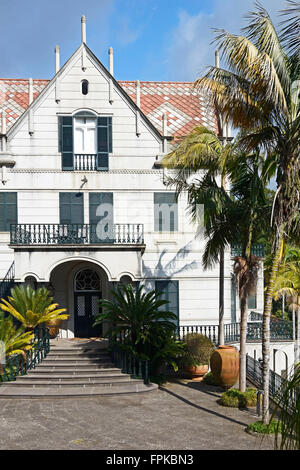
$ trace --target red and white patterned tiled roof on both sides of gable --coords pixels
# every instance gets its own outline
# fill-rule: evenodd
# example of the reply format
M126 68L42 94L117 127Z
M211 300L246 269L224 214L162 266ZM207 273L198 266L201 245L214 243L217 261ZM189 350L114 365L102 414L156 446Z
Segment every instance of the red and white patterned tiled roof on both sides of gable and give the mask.
M49 80L33 80L33 99ZM136 82L119 81L136 102ZM162 116L166 113L168 135L180 137L194 127L205 125L218 133L217 118L207 95L193 88L192 82L140 82L141 110L162 133ZM0 79L0 109L6 112L7 130L29 106L28 79ZM1 122L0 114L0 122Z

